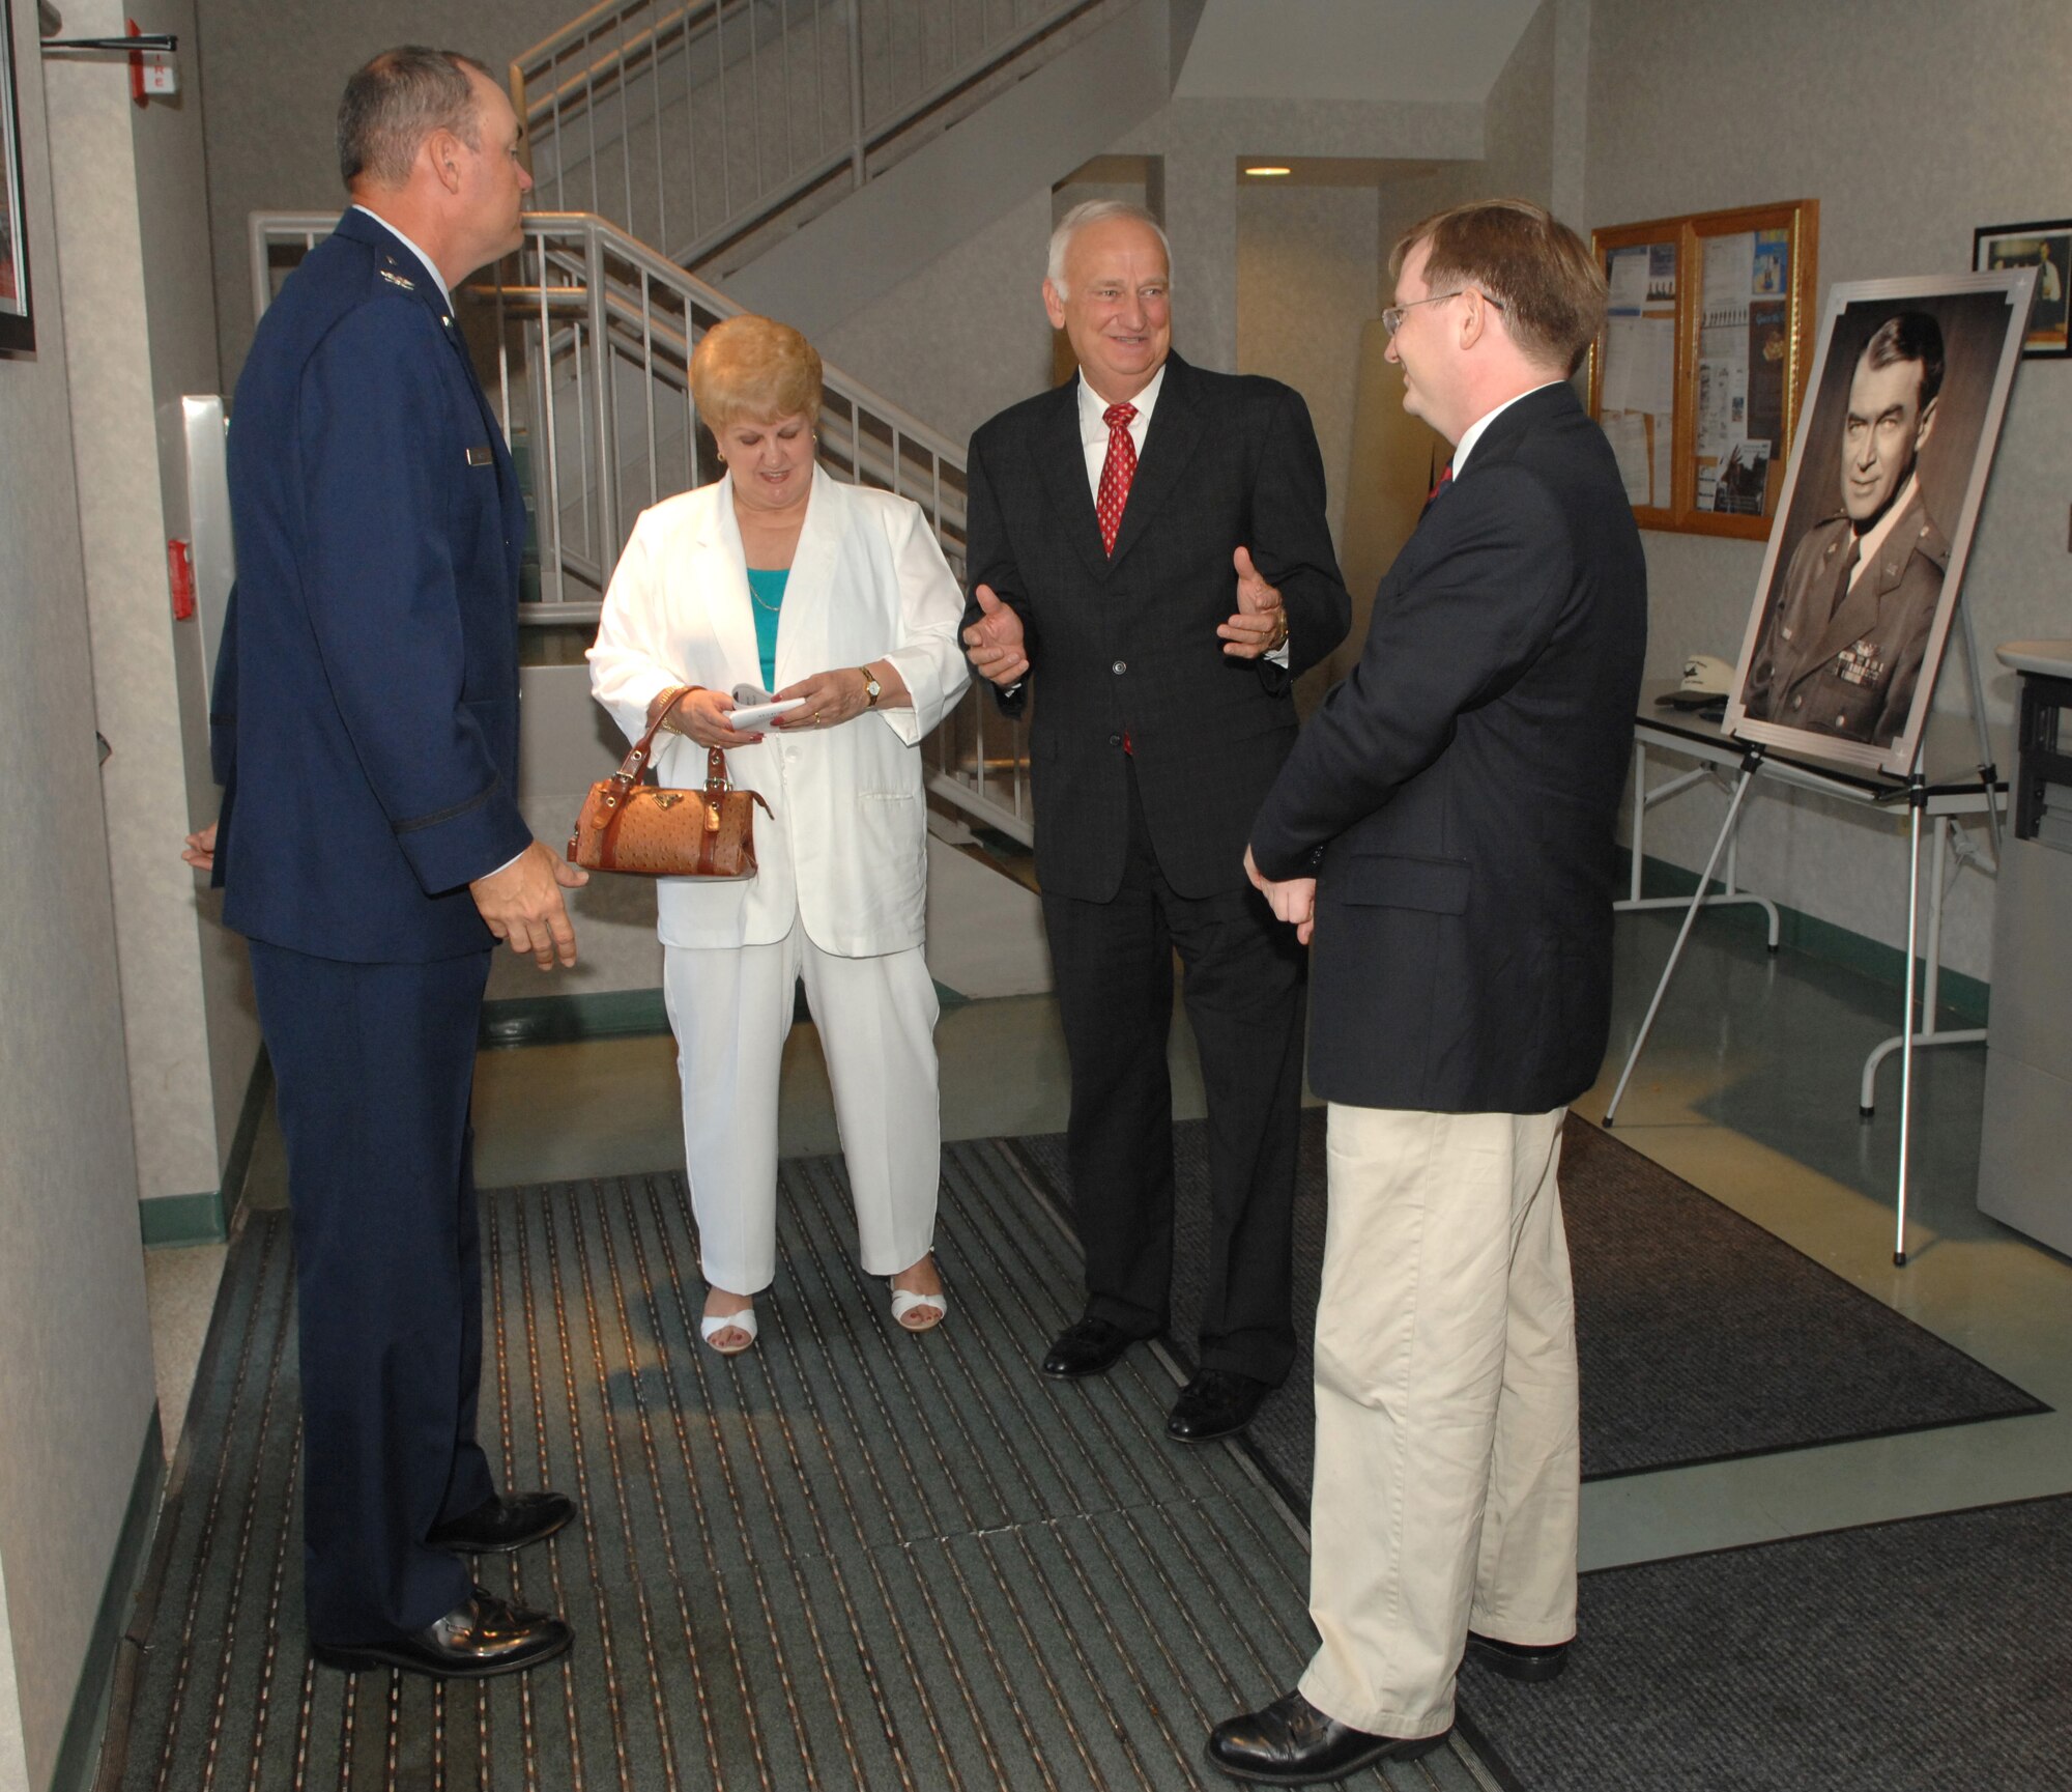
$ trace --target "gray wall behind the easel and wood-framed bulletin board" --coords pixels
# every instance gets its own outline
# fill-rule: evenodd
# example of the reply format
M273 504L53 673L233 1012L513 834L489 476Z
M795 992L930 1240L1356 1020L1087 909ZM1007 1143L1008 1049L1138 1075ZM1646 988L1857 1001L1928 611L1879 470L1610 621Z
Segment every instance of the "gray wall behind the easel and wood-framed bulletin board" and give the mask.
M1589 39L1587 214L1614 226L1819 199L1821 299L1836 280L1960 272L1977 224L2062 218L2072 8L2062 0L1595 0ZM1819 307L1815 307L1815 319ZM2014 386L1973 543L1964 601L1993 670L1995 641L2072 633L2072 363L2028 361ZM1763 548L1647 531L1649 674L1678 655L1732 660ZM1958 676L1952 676L1958 674ZM1937 707L1964 709L1952 664ZM1894 946L1906 937L1904 828L1765 786L1743 825L1757 890ZM1670 805L1649 850L1705 863L1718 807ZM1991 884L1956 879L1946 962L1989 971Z

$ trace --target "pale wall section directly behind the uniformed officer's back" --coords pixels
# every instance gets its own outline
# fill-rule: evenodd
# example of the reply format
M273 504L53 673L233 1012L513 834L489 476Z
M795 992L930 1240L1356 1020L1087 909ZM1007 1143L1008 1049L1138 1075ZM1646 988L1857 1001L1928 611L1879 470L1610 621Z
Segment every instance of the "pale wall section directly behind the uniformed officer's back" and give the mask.
M191 0L139 23L182 35ZM118 0L79 0L70 29L120 35ZM215 390L201 106L193 91L139 110L116 58L48 68L64 272L73 458L93 641L95 722L114 871L131 1120L143 1199L211 1193L257 1054L242 954L195 904L178 859L207 763L199 624L176 622L166 575L160 413ZM184 494L180 494L184 500ZM213 1002L211 1002L213 998ZM211 1039L209 1006L215 1008Z

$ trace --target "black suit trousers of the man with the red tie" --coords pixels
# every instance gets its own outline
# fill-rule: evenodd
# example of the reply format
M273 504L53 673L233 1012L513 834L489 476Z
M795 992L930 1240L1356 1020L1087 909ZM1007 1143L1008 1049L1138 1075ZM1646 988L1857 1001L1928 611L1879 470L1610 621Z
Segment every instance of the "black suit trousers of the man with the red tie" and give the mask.
M1073 1215L1086 1311L1164 1329L1173 1282L1173 952L1208 1095L1208 1290L1200 1365L1278 1385L1289 1315L1305 960L1256 890L1187 898L1158 871L1138 782L1129 852L1109 902L1044 896L1071 1054Z

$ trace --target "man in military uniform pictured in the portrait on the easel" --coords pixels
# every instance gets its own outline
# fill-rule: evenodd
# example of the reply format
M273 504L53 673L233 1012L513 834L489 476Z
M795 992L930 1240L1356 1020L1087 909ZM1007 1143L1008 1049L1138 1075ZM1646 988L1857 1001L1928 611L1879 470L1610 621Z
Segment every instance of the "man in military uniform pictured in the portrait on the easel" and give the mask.
M1857 357L1842 423L1842 508L1792 548L1749 660L1757 722L1890 747L1906 732L1950 539L1921 496L1941 394L1941 326L1888 317Z

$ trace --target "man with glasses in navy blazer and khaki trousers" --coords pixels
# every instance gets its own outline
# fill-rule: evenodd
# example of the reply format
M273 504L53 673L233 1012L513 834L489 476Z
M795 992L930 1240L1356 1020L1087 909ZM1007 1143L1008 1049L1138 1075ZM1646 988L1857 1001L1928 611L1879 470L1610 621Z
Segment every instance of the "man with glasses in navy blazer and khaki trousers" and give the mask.
M1438 1746L1463 1649L1546 1680L1575 1630L1575 1309L1554 1170L1612 1000L1612 830L1647 635L1639 533L1566 384L1604 317L1525 201L1411 230L1382 313L1450 477L1251 830L1314 933L1330 1103L1299 1690L1210 1761L1303 1786Z

